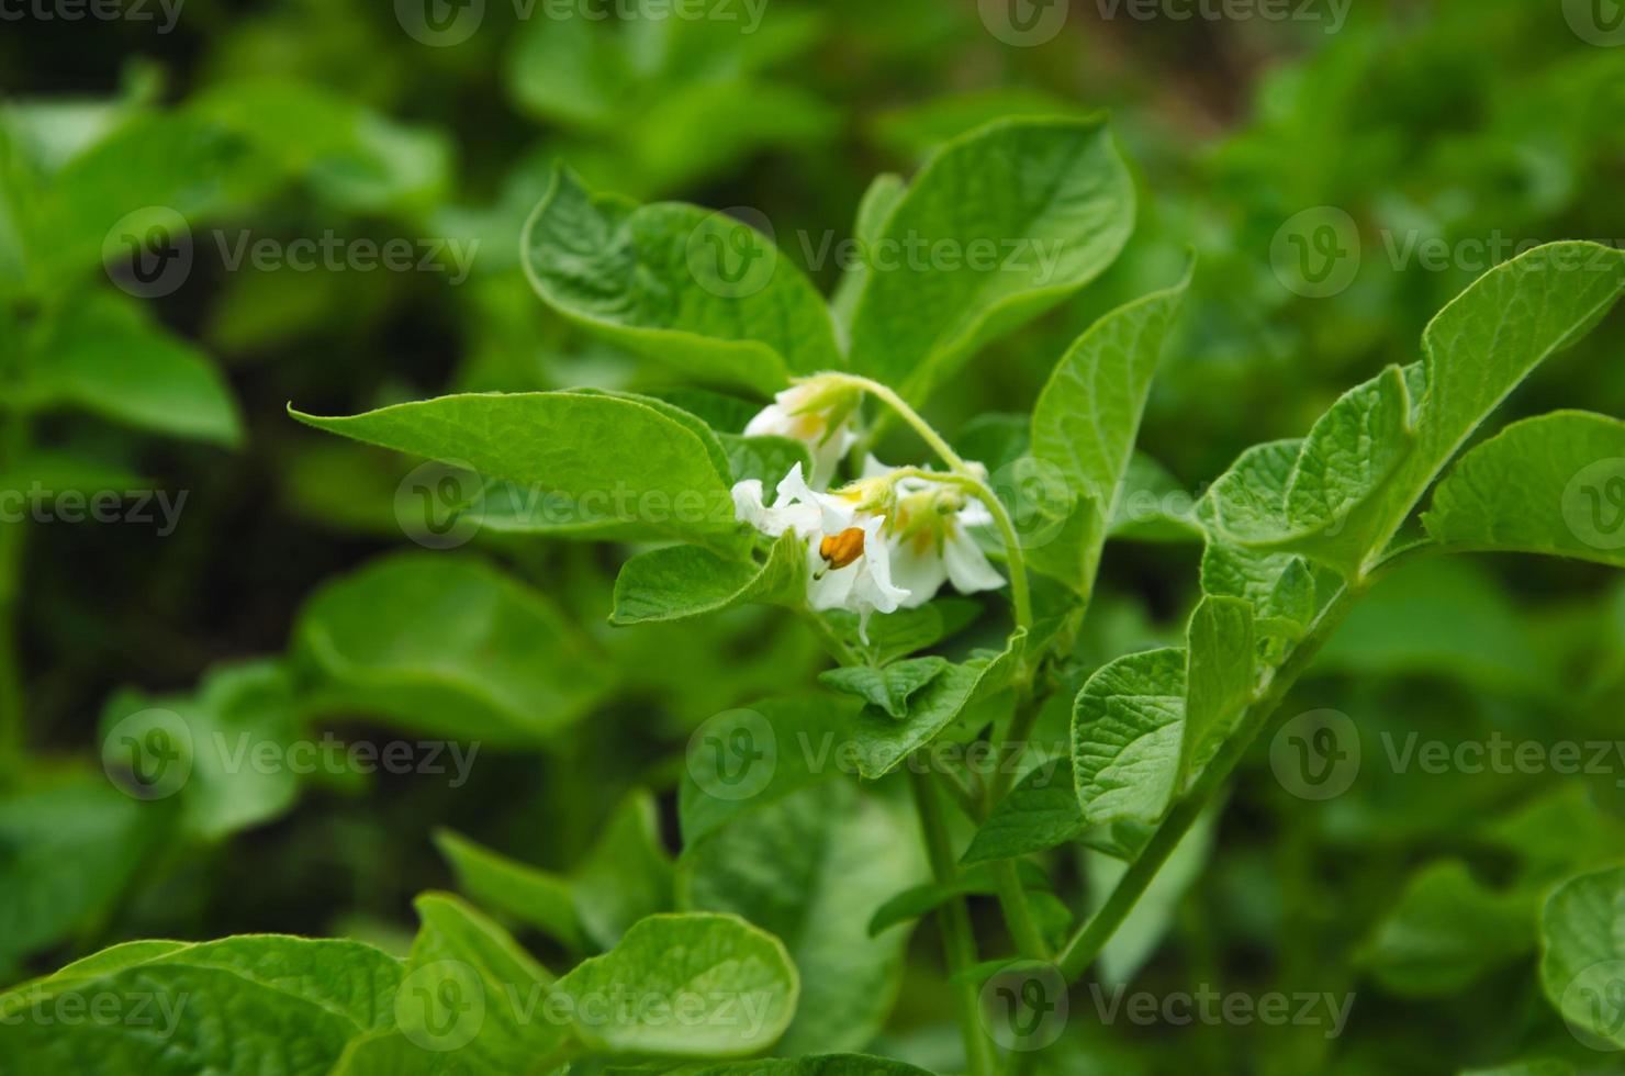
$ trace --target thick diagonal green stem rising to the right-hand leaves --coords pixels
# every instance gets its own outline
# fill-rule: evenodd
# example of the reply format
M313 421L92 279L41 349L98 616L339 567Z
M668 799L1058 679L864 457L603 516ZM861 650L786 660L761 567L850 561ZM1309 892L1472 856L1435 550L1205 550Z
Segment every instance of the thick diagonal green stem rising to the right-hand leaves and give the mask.
M1118 926L1128 917L1139 897L1146 892L1146 887L1162 870L1162 865L1178 847L1180 840L1190 831L1191 824L1202 813L1202 809L1212 801L1212 798L1224 788L1224 783L1230 779L1230 772L1240 764L1246 749L1253 744L1253 740L1264 730L1269 718L1274 715L1276 709L1287 697L1287 692L1297 683L1297 679L1308 670L1315 655L1326 644L1332 629L1342 623L1342 618L1349 614L1354 603L1365 593L1370 585L1372 577L1362 580L1358 587L1344 587L1337 595L1321 610L1320 616L1310 626L1303 640L1292 649L1292 653L1282 662L1280 668L1269 678L1269 684L1264 692L1246 707L1242 715L1242 722L1237 725L1235 733L1225 740L1224 748L1214 756L1207 769L1202 770L1196 783L1191 785L1190 792L1180 798L1178 803L1168 811L1157 826L1157 831L1150 835L1144 850L1128 868L1121 879L1118 879L1116 887L1107 902L1100 905L1089 922L1086 922L1061 949L1061 956L1056 957L1056 965L1068 982L1076 980L1089 965L1095 962L1100 956L1100 949L1105 948L1112 935L1116 933Z

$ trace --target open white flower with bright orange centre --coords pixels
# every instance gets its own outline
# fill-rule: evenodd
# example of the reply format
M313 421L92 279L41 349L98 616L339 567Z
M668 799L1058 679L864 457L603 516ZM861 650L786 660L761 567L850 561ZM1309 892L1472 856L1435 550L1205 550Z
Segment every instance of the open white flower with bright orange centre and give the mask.
M796 463L778 483L772 507L764 504L762 483L754 478L733 488L733 504L738 518L762 533L777 538L795 531L804 538L808 605L856 613L858 631L868 639L869 616L897 611L910 593L892 584L886 517L860 507L864 492L863 484L817 492Z

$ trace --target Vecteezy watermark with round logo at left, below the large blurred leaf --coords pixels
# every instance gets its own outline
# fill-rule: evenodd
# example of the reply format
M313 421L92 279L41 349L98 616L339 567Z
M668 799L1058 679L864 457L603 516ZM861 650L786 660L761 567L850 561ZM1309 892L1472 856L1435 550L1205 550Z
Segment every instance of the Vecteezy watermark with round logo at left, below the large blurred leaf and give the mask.
M200 762L224 777L239 774L419 774L468 783L479 741L369 740L346 741L327 731L317 738L281 740L240 730L213 730L198 740L174 710L153 707L119 720L102 738L102 769L114 785L138 800L164 800L185 788Z

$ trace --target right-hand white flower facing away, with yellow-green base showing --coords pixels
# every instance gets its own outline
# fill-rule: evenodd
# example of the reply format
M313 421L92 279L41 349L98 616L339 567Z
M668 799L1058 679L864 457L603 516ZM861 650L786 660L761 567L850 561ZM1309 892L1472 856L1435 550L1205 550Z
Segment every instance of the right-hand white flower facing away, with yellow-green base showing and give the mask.
M863 463L864 479L882 479L897 468L873 455ZM991 527L993 515L980 501L925 478L899 478L897 504L887 518L892 579L908 592L902 608L912 610L936 597L944 582L959 593L998 590L1004 585L970 527Z

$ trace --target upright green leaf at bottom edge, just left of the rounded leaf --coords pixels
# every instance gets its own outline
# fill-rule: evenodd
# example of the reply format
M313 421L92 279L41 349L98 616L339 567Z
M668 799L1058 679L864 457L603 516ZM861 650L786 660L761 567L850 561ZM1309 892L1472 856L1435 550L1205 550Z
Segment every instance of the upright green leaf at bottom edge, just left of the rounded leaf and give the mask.
M554 977L494 922L450 894L414 902L421 926L395 1001L398 1030L457 1050L476 1071L525 1071L572 1034L549 1004Z

